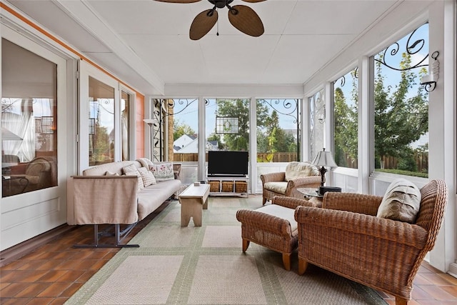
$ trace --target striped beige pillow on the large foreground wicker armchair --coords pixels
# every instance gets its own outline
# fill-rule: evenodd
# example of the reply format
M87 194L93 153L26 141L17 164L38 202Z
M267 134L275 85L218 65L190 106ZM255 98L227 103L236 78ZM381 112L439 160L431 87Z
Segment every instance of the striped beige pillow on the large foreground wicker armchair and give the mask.
M387 188L378 207L378 217L413 224L421 205L421 190L411 181L397 179Z

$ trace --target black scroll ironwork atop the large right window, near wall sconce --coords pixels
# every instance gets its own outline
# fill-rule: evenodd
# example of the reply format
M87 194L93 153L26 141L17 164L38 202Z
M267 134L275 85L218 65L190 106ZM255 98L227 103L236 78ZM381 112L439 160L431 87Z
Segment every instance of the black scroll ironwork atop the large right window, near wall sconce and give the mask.
M420 28L421 28L421 26L419 26L417 29L412 31L411 34L408 36L408 39L406 41L406 53L408 55L418 54L418 52L421 51L426 44L425 39L416 39L416 40L413 39L414 34ZM384 66L387 66L388 68L396 70L396 71L408 71L411 69L419 68L421 66L428 66L428 64L423 64L426 61L426 59L428 59L428 52L425 56L423 56L423 59L418 61L418 63L414 64L413 66L408 66L405 68L401 68L401 67L396 68L392 64L388 64L387 61L389 59L391 59L393 56L396 56L398 51L400 51L400 44L398 44L398 42L395 42L395 43L391 44L391 46L388 46L388 48L386 48L383 51L383 55L381 57L382 60L379 60L379 59L374 59L374 60L377 61L378 63L383 64ZM390 56L388 56L389 54L390 54Z

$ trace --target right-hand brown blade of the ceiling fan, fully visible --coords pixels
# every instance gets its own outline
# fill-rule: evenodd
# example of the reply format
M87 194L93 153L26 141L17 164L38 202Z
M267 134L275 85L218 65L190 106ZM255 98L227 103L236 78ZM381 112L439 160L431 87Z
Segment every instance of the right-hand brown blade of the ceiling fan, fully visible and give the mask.
M263 23L258 14L249 6L236 5L229 9L229 21L244 34L258 37L263 34Z

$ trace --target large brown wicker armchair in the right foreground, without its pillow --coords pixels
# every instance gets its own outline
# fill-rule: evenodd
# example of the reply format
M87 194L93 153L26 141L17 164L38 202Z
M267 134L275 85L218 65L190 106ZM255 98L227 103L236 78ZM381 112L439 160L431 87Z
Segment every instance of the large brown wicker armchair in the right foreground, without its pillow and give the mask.
M415 224L376 217L380 196L326 193L323 209L298 207L298 274L311 263L408 304L443 220L446 184L430 181L421 197Z

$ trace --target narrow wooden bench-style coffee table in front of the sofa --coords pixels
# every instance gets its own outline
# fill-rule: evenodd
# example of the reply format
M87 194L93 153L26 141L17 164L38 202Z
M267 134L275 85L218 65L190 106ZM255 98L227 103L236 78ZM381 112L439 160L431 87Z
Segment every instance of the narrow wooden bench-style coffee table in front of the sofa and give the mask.
M208 209L209 184L194 186L191 184L181 194L181 226L188 226L189 221L194 219L195 226L201 226L202 210Z

